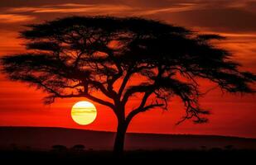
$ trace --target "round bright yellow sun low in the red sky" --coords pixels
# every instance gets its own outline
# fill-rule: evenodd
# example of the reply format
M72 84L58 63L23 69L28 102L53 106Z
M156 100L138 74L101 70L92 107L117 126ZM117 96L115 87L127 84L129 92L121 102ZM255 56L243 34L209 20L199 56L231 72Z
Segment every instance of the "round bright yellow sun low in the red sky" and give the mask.
M71 110L72 119L79 125L89 125L96 116L96 107L89 101L76 102Z

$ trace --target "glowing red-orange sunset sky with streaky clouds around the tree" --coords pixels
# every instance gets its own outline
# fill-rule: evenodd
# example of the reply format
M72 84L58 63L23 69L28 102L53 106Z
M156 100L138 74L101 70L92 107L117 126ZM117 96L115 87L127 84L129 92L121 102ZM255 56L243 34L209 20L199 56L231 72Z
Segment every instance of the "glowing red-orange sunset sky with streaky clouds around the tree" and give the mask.
M18 31L24 25L54 20L61 16L109 15L142 16L185 26L192 31L210 32L227 37L215 43L229 50L241 70L256 73L256 1L246 0L1 0L0 56L26 51ZM202 89L210 88L202 82ZM51 126L85 130L115 131L113 111L94 103L97 118L90 125L77 125L70 116L71 107L86 99L57 99L43 105L41 91L0 75L0 125ZM190 120L175 125L184 115L180 100L170 101L169 110L147 111L136 116L128 132L157 134L220 134L256 138L255 95L227 94L215 89L200 99L209 109L209 123L195 125ZM134 101L134 104L136 102ZM133 103L130 104L133 107Z

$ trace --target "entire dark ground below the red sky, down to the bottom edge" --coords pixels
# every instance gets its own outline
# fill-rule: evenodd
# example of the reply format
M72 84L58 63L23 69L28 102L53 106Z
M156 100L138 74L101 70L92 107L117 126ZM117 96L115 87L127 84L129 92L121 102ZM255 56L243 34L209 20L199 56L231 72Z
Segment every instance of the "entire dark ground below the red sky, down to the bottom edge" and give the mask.
M111 132L0 127L0 164L256 164L256 139L128 134L127 151L121 160L114 158L111 152L113 139Z

